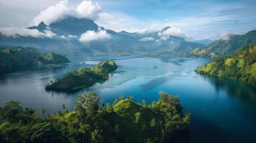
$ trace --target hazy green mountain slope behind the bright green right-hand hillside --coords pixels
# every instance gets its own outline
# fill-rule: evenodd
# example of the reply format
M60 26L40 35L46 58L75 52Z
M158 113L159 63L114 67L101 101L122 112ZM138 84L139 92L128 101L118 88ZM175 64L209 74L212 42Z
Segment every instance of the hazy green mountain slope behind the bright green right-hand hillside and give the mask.
M244 46L256 41L256 30L249 31L243 35L229 35L226 40L217 40L203 49L194 49L189 56L217 57L234 53Z

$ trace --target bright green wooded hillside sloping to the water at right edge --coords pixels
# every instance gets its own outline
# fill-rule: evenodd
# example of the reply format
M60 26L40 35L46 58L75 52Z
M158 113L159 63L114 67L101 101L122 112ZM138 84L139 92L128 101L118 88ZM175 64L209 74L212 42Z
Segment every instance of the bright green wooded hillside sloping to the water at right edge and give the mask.
M237 79L256 87L256 44L206 64L196 72Z

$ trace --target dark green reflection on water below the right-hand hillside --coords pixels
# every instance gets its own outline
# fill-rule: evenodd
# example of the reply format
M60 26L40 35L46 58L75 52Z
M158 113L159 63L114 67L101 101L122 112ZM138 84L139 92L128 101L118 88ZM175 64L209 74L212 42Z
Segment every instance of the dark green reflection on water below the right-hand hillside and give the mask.
M244 102L245 104L243 105L247 106L246 110L237 107L235 111L240 112L240 114L248 119L256 120L256 115L254 114L256 112L256 89L254 87L231 79L223 79L208 75L202 75L202 77L214 86L216 92L224 90L229 97Z

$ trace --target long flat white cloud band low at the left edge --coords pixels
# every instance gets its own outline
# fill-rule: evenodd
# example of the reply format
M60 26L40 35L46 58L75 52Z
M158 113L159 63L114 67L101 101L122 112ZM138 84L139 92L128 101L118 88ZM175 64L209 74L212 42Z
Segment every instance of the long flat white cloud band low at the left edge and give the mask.
M52 31L44 30L44 32L40 32L37 29L24 29L24 28L0 28L0 33L4 36L17 38L19 36L32 36L35 38L52 38L56 34L52 33Z

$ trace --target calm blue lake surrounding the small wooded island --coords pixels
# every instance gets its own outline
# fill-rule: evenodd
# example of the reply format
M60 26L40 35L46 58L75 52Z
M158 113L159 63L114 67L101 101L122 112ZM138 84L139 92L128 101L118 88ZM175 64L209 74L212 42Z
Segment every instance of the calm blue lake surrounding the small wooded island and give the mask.
M77 93L47 92L45 85L68 71L95 66L101 59L115 59L118 69L108 81ZM179 97L184 112L191 112L191 142L256 142L256 90L246 84L196 74L209 61L170 56L70 57L69 64L52 64L0 77L0 106L10 100L47 114L65 103L73 109L77 95L96 92L104 103L120 95L151 103L164 91Z

